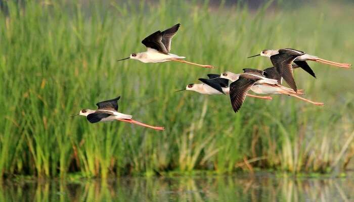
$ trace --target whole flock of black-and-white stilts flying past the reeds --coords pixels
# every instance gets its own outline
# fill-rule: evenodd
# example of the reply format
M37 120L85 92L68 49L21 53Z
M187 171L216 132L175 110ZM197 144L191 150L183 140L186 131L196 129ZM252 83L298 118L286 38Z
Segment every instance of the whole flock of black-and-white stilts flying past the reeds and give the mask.
M201 65L188 62L183 60L185 57L169 53L171 49L171 39L178 31L179 27L180 24L176 24L164 31L159 30L152 33L142 41L142 43L147 47L147 52L132 53L129 57L118 61L127 59L139 60L143 63L164 63L174 61L197 65L205 68L214 68L214 66L211 65ZM274 67L270 67L264 70L246 68L243 69L243 73L240 74L235 74L232 72L224 72L220 75L208 74L208 79L199 79L202 83L189 84L185 89L182 90L192 90L202 94L229 93L231 105L235 113L241 108L246 96L261 99L272 99L270 96L258 96L249 94L249 90L257 94L286 94L304 100L305 102L312 103L314 105L323 106L323 103L313 102L312 100L308 100L300 96L304 93L302 89L297 89L294 80L293 69L301 68L316 78L314 71L308 66L306 61L319 62L340 68L350 68L351 66L350 64L346 63L336 63L324 60L291 48L282 48L277 50L265 49L261 51L260 54L248 58L256 56L264 56L270 58ZM283 78L290 86L290 88L281 85ZM229 81L231 81L230 85ZM87 120L89 120L91 123L118 120L138 124L156 130L164 130L163 127L155 127L144 124L133 120L131 115L119 113L119 98L120 96L97 103L97 110L84 109L81 110L78 115L86 116Z

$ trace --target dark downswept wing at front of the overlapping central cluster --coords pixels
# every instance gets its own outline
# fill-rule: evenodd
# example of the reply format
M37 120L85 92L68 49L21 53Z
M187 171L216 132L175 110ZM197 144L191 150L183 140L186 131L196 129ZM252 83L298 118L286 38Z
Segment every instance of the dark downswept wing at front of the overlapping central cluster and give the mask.
M241 108L248 90L259 79L252 75L241 75L239 79L230 84L230 100L235 113Z

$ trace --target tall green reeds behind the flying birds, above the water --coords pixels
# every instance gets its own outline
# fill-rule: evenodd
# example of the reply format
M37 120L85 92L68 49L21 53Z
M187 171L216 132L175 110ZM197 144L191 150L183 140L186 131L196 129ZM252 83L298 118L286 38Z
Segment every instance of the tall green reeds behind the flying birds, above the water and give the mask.
M254 3L254 2L253 2ZM102 177L258 169L332 172L354 156L354 72L309 62L295 71L305 97L247 98L176 89L208 73L272 66L246 59L295 48L353 63L351 1L1 1L0 175ZM214 65L116 62L141 40L181 23L171 53ZM164 132L70 118L121 95L119 111ZM351 167L352 168L352 167Z

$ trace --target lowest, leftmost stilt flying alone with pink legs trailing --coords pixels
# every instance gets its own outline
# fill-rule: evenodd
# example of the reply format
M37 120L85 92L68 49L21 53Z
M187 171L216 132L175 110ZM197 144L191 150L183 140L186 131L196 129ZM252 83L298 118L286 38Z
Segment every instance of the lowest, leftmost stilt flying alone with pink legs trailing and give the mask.
M78 115L85 116L90 123L97 123L103 121L124 121L132 124L138 124L144 127L152 128L155 130L164 130L164 127L150 126L135 120L132 120L131 115L122 114L118 112L118 99L120 96L97 103L97 110L83 109L80 110Z

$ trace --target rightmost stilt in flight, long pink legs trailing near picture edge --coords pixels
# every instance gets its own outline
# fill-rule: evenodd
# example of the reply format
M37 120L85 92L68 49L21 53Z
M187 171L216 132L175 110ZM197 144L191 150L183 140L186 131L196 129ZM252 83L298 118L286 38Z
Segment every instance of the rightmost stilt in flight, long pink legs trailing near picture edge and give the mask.
M317 56L308 55L302 51L298 51L292 48L283 48L277 50L264 49L263 51L260 52L260 54L248 58L252 58L256 56L264 56L270 58L273 66L276 68L278 73L285 79L285 81L289 84L289 86L295 91L297 91L297 87L296 87L294 75L292 72L292 66L291 66L293 62L315 78L316 75L314 71L308 66L306 61L315 61L315 62L324 63L324 64L333 65L342 68L350 68L351 66L350 64L346 64L346 63L336 63L336 62L324 60Z

